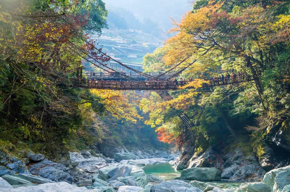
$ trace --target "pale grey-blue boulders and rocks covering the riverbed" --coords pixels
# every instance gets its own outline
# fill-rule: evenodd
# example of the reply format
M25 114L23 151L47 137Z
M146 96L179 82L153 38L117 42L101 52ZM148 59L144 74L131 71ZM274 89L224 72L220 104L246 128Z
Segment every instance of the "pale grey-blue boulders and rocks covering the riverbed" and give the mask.
M180 177L174 180L146 175L142 168L148 164L176 164L178 155L168 151L120 150L111 157L103 154L92 155L89 151L71 152L69 158L62 163L52 162L44 155L33 153L28 154L27 162L3 152L0 157L0 191L5 192L290 191L290 166L262 173L260 182L221 181L224 172L215 167L184 169Z

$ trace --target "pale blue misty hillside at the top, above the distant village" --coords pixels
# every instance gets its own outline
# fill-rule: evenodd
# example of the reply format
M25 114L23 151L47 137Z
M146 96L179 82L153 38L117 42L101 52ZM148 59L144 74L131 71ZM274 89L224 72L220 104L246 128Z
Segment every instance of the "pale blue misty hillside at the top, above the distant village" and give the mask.
M169 2L165 0L105 0L104 2L109 10L109 23L112 24L114 21L118 28L130 26L130 28L134 27L144 31L147 28L156 28L157 26L167 31L172 28L170 18L180 20L181 15L192 9L188 0Z

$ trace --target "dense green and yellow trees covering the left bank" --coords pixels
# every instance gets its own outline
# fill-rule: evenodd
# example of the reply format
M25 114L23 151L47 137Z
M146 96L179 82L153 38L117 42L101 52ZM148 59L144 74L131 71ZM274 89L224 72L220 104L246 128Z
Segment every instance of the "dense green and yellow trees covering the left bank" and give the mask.
M106 27L104 3L2 0L0 13L1 132L47 151L87 133L83 125L104 113L103 99L71 87L70 78L93 53L85 31Z

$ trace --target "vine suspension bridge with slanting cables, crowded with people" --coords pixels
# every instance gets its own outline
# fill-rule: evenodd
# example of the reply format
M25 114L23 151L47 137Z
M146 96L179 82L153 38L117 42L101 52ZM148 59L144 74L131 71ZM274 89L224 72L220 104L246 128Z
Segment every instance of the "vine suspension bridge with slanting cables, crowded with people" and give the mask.
M86 41L86 40L85 40ZM88 41L86 41L89 44ZM71 83L75 87L81 88L95 88L95 89L108 89L108 90L177 90L182 88L182 86L190 83L185 80L176 80L176 76L182 73L186 68L191 66L195 61L183 67L178 72L173 72L175 68L180 66L184 61L186 61L191 55L184 58L180 63L175 65L173 68L167 70L164 73L143 73L134 68L131 68L112 57L106 55L102 50L94 47L98 52L105 55L108 59L115 61L117 64L127 68L130 72L123 73L113 68L108 67L106 64L101 61L93 58L90 55L86 55L87 58L83 57L85 61L93 64L94 66L101 68L105 72L85 72L83 73L84 67L77 69L77 78L71 79ZM83 77L86 78L83 78ZM222 86L227 84L237 84L246 81L254 80L252 76L241 74L233 74L232 76L228 76L226 78L212 78L212 79L204 79L204 83L202 84L202 88L214 87L214 86ZM191 86L187 86L186 88L194 88Z

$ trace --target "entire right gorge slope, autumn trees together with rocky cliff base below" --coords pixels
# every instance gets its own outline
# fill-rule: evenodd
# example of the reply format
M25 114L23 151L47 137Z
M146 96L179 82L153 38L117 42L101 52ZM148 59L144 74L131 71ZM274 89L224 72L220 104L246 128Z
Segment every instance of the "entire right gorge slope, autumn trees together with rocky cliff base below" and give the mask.
M266 171L289 164L289 27L288 1L200 0L176 21L171 32L177 34L144 57L145 70L154 71L191 55L177 71L189 66L181 78L194 80L184 88L196 89L173 91L174 99L166 102L156 95L141 102L160 140L180 146L178 169L214 166L231 178L238 170L231 158L240 155L246 159L239 163L251 166L257 157ZM199 88L201 79L223 84L221 74L240 73L255 81ZM194 126L186 128L178 113L186 113Z

